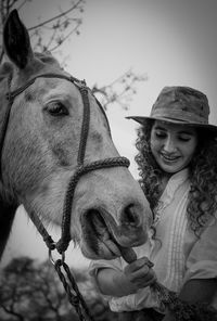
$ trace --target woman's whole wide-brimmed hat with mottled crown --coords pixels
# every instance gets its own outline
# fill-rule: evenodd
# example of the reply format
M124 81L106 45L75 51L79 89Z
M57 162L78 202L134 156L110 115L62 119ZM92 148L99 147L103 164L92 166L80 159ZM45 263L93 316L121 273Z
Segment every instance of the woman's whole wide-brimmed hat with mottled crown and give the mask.
M165 87L152 106L150 116L128 116L141 125L145 120L161 120L189 125L215 131L217 126L208 123L209 105L206 95L190 87Z

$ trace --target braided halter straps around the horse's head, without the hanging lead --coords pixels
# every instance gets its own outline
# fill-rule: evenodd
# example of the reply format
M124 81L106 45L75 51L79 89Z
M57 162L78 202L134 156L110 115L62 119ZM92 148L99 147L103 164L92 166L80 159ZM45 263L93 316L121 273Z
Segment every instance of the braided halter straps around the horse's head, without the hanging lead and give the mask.
M2 156L2 150L4 144L4 138L7 134L7 128L10 119L10 112L13 104L14 99L22 93L25 89L27 89L29 86L31 86L37 78L60 78L65 79L67 81L73 82L78 89L82 98L82 104L84 104L84 115L82 115L82 124L81 124L81 132L80 132L80 141L79 141L79 149L78 149L78 155L77 155L77 167L75 169L74 175L69 179L69 183L67 185L65 200L64 200L64 206L63 206L63 217L62 217L62 224L61 224L61 239L55 243L52 237L49 235L48 231L46 230L44 226L42 224L41 220L35 213L28 213L29 217L31 218L34 224L38 229L39 233L42 235L43 241L46 242L47 246L50 251L56 248L59 253L64 254L64 252L67 249L68 244L71 242L71 213L72 213L72 206L73 206L73 198L76 185L85 174L90 172L92 170L102 169L102 168L111 168L111 167L117 167L117 166L129 166L129 160L126 157L111 157L105 159L99 159L95 162L92 162L90 164L85 164L85 154L86 154L86 145L88 140L88 132L89 132L89 125L90 125L90 102L88 98L88 91L90 90L87 86L85 80L79 80L73 76L66 76L62 74L40 74L31 78L29 81L27 81L24 86L10 91L10 82L9 80L9 92L7 93L7 99L9 101L7 113L3 119L3 126L2 126L2 132L0 137L0 156ZM97 99L95 99L97 100ZM106 117L106 114L101 106L101 104L97 103L103 113L107 125L108 120ZM110 128L110 126L108 126ZM1 169L1 168L0 168ZM1 179L2 179L2 171Z

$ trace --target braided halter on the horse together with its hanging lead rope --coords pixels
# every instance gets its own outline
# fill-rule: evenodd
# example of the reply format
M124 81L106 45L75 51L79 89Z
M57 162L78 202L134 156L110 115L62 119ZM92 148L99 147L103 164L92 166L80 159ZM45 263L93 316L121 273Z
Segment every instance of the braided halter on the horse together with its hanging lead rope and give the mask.
M30 80L28 80L24 86L11 91L10 90L10 85L11 85L11 78L9 79L9 91L5 94L5 98L8 100L8 108L7 113L4 115L3 119L3 126L2 126L2 131L0 133L0 157L2 156L2 150L4 145L4 139L7 134L7 129L8 125L10 121L10 113L11 108L14 102L14 99L25 91L29 86L31 86L37 78L60 78L60 79L65 79L67 81L71 81L74 84L82 98L82 105L84 105L84 115L82 115L82 124L81 124L81 131L80 131L80 141L79 141L79 147L78 147L78 155L77 155L77 166L74 175L69 179L69 183L65 193L65 198L64 198L64 206L63 206L63 217L62 217L62 224L61 224L61 239L55 243L51 235L48 233L46 230L44 226L42 224L41 220L35 213L28 213L30 219L33 220L34 224L36 226L37 230L39 233L42 235L43 241L46 242L48 248L49 248L49 258L51 262L54 265L55 270L59 274L60 280L63 283L63 286L67 293L68 300L69 303L75 307L80 320L86 320L85 314L89 318L89 320L93 320L91 316L89 314L88 308L82 299L81 294L79 293L79 290L76 285L76 282L69 271L69 268L65 264L65 251L68 247L68 244L71 242L71 213L72 213L72 206L73 206L73 198L74 198L74 193L76 185L79 181L79 179L86 175L87 172L102 169L102 168L111 168L111 167L117 167L117 166L124 166L128 167L129 166L129 160L126 157L111 157L111 158L105 158L105 159L99 159L95 162L92 162L90 164L85 164L85 154L86 154L86 145L87 145L87 140L88 140L88 133L89 133L89 125L90 125L90 103L89 103L89 98L88 98L88 92L90 89L86 86L85 80L79 80L73 76L66 76L63 74L52 74L52 73L47 73L47 74L39 74L35 77L33 77ZM106 117L106 114L99 103L99 101L95 99L101 112L103 113L108 129L108 120ZM110 130L111 134L111 130ZM2 168L0 167L0 178L2 180ZM58 252L62 255L62 259L58 259L56 261L53 260L51 252L53 249L58 249ZM61 271L61 268L63 268L63 272ZM68 284L69 283L69 284ZM74 293L72 292L72 288ZM84 312L81 311L81 307Z

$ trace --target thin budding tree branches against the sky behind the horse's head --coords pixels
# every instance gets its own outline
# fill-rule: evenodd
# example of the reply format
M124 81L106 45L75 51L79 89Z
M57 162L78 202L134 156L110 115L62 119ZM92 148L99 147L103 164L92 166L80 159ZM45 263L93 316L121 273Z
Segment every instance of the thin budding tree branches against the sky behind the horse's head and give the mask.
M25 10L25 5L37 0L0 0L0 33L9 12L13 9ZM52 8L53 9L53 8ZM60 61L60 50L63 43L72 39L73 36L80 35L82 24L82 12L85 0L68 0L68 8L62 10L56 8L56 14L39 22L28 28L31 43L35 51L50 51ZM24 22L25 23L25 22ZM4 51L0 46L0 63L3 61ZM68 56L68 55L67 55ZM63 66L67 66L67 56L62 59ZM145 81L145 75L137 75L131 69L104 86L93 86L92 91L98 97L103 107L106 110L111 104L117 103L122 108L128 110L132 95L137 93L137 85Z

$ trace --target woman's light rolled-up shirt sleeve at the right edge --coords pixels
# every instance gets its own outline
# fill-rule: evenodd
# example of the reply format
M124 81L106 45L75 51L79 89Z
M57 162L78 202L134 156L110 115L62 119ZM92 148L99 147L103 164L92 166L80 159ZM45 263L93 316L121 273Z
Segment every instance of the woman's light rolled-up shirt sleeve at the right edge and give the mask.
M188 259L183 283L190 279L217 278L217 219L203 231Z

